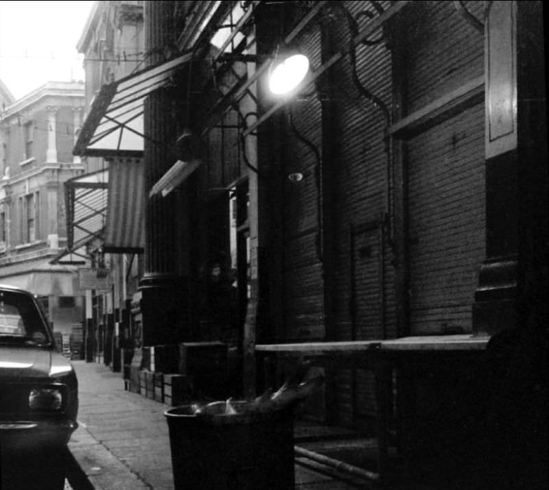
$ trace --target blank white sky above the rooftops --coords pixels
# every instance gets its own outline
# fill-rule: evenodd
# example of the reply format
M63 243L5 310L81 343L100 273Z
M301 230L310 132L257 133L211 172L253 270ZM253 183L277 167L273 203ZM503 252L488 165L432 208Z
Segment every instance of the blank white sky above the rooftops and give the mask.
M84 80L76 43L92 5L0 0L0 79L16 99L46 82Z

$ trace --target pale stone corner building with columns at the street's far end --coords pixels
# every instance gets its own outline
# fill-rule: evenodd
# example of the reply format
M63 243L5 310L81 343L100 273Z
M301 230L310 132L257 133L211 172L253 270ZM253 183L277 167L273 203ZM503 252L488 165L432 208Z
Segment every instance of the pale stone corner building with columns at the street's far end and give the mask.
M47 82L0 113L0 282L40 297L54 331L81 328L74 266L51 265L67 241L63 183L84 172L72 147L84 108L83 82Z

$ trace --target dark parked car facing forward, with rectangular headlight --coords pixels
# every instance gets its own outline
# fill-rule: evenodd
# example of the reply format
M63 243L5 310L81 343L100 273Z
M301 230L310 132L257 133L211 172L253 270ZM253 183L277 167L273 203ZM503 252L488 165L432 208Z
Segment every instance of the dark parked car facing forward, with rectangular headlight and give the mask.
M78 381L38 301L0 285L0 488L58 490Z

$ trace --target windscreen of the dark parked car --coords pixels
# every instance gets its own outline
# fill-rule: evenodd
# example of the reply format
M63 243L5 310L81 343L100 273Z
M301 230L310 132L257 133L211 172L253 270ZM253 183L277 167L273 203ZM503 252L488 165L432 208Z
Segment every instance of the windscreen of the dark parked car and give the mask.
M0 343L49 345L47 327L32 297L0 291Z

